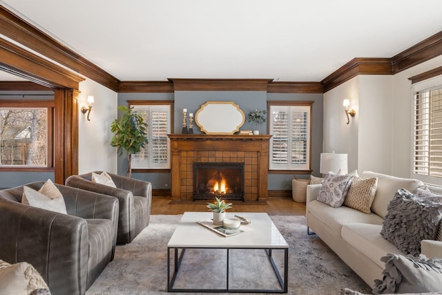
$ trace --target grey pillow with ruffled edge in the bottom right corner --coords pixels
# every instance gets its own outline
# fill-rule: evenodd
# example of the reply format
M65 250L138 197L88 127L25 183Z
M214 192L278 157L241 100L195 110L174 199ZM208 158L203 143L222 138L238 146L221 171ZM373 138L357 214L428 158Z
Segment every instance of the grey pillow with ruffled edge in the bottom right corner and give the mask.
M383 279L374 280L373 294L442 292L442 259L387 254Z

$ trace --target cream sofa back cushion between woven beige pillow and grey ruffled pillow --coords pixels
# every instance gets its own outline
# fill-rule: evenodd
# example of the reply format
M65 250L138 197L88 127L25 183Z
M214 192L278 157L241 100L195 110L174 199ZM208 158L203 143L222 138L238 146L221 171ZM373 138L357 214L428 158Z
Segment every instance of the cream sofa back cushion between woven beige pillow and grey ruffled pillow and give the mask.
M416 187L423 185L420 180L409 178L396 178L391 175L385 175L372 171L364 171L361 173L361 178L378 178L378 187L376 188L376 195L374 196L372 204L372 212L385 218L387 215L388 203L394 197L398 189L407 189L407 191L414 191Z

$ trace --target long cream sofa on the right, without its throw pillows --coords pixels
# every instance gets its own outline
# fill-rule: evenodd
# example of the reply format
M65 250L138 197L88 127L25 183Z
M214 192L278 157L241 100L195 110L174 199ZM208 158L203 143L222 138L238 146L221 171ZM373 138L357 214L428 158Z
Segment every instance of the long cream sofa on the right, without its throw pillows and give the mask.
M321 185L310 184L307 186L307 227L310 234L314 231L365 283L373 287L374 280L382 278L385 264L381 262L381 257L388 253L403 254L381 236L387 205L398 189L414 191L423 182L372 171L365 171L360 177L378 178L372 213L366 214L345 206L333 208L319 202L316 197ZM441 188L430 187L430 190L442 193ZM423 240L421 252L430 258L442 258L442 241Z

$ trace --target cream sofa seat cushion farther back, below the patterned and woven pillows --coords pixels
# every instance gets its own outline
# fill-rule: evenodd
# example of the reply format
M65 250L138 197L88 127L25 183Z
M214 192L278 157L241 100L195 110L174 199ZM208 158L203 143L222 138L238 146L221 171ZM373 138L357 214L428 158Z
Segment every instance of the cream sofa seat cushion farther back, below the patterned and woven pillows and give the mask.
M309 213L322 221L326 227L329 227L336 236L340 236L341 228L348 223L363 222L382 225L383 222L383 218L374 213L365 214L349 207L332 208L317 200L309 202L308 210Z

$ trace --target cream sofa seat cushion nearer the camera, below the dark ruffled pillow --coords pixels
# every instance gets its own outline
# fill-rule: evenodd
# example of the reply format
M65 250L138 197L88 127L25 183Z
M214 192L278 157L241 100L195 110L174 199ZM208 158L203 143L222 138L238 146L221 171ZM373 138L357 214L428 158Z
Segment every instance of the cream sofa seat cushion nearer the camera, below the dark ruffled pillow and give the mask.
M343 225L341 236L343 240L367 256L373 263L383 268L381 257L388 253L403 254L391 242L381 236L382 225L367 223L349 223Z

